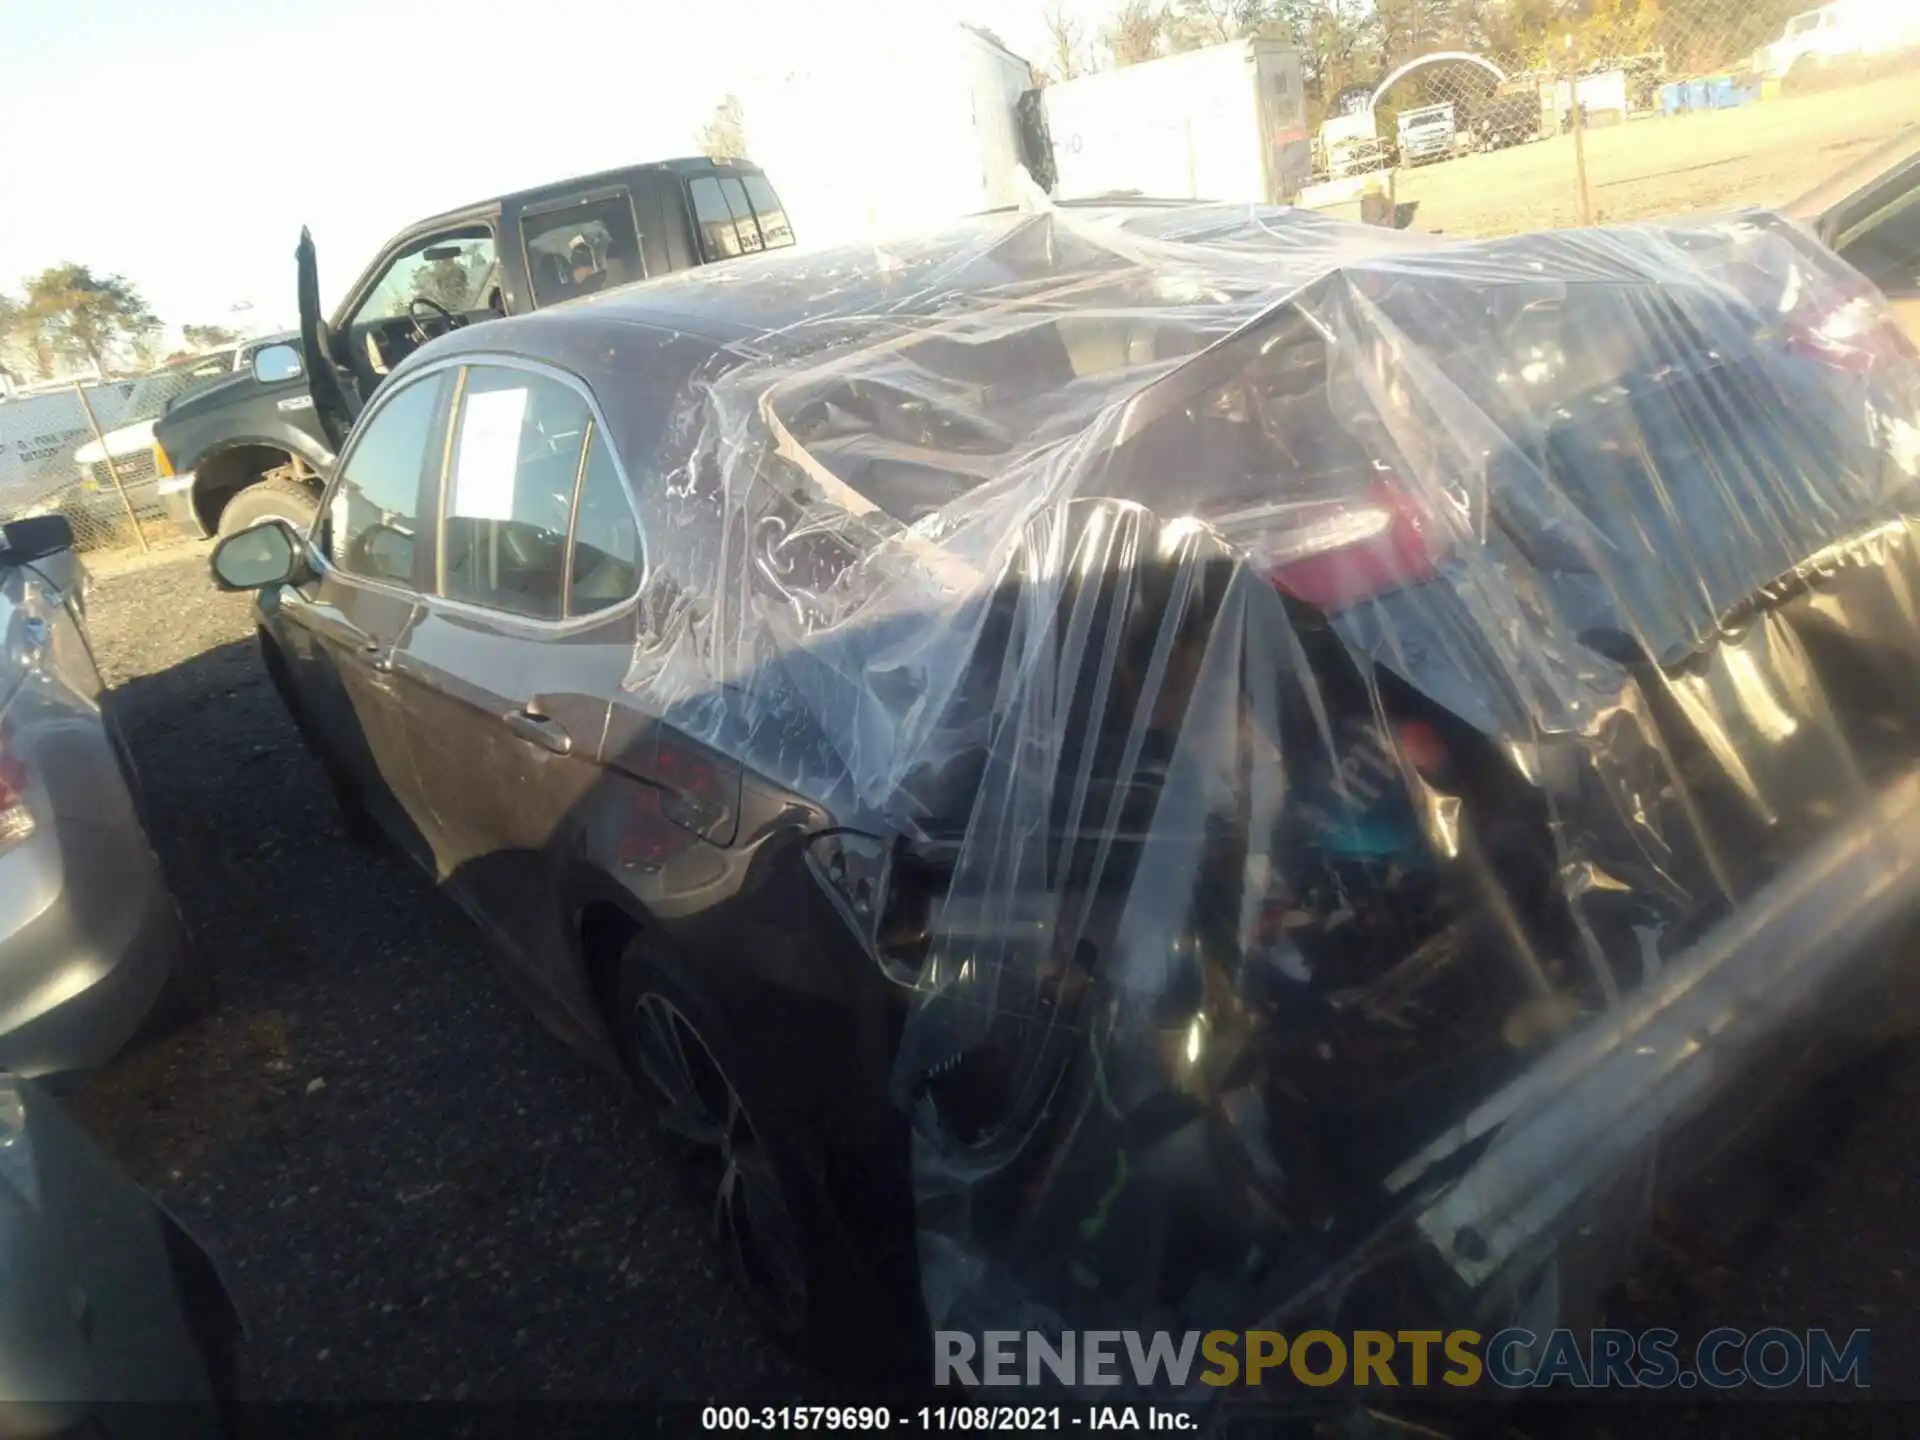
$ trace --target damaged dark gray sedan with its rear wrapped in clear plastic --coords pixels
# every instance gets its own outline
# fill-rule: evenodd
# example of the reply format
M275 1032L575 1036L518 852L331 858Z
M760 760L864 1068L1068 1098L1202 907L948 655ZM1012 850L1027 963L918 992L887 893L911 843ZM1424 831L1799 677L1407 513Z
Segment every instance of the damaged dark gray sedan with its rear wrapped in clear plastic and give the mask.
M1574 1323L1912 908L1920 365L1768 215L983 217L317 382L215 572L789 1334L897 1223L937 1329Z

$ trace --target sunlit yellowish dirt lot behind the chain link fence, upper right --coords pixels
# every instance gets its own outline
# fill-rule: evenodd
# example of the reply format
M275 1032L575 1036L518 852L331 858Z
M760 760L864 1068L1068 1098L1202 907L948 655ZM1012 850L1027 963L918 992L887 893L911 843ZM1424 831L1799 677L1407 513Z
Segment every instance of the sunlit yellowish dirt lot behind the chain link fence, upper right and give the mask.
M1914 121L1920 88L1885 79L1596 129L1586 136L1596 219L1780 205ZM1402 171L1396 200L1419 204L1417 230L1511 234L1578 225L1572 136Z

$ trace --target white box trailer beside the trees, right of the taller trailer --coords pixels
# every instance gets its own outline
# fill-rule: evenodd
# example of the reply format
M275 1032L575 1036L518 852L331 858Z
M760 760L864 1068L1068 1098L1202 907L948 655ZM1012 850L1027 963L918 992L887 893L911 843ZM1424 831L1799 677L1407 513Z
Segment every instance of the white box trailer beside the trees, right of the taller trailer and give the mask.
M1284 204L1313 169L1300 52L1236 40L1044 90L1060 200Z

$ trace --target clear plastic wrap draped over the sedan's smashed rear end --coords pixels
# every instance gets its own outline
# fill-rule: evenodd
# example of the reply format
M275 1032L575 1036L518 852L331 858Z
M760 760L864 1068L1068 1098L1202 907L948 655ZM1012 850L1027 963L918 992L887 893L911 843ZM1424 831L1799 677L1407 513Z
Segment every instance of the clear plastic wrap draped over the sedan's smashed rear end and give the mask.
M935 1327L1571 1308L1914 897L1920 365L1763 213L989 228L687 392L628 678L870 818Z

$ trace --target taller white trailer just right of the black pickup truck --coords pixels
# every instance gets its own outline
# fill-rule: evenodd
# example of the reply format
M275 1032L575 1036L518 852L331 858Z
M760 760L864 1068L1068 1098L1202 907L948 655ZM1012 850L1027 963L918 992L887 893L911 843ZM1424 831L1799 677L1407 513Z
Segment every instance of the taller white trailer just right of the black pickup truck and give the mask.
M741 94L747 152L803 246L1020 204L1033 67L970 25L900 13Z

